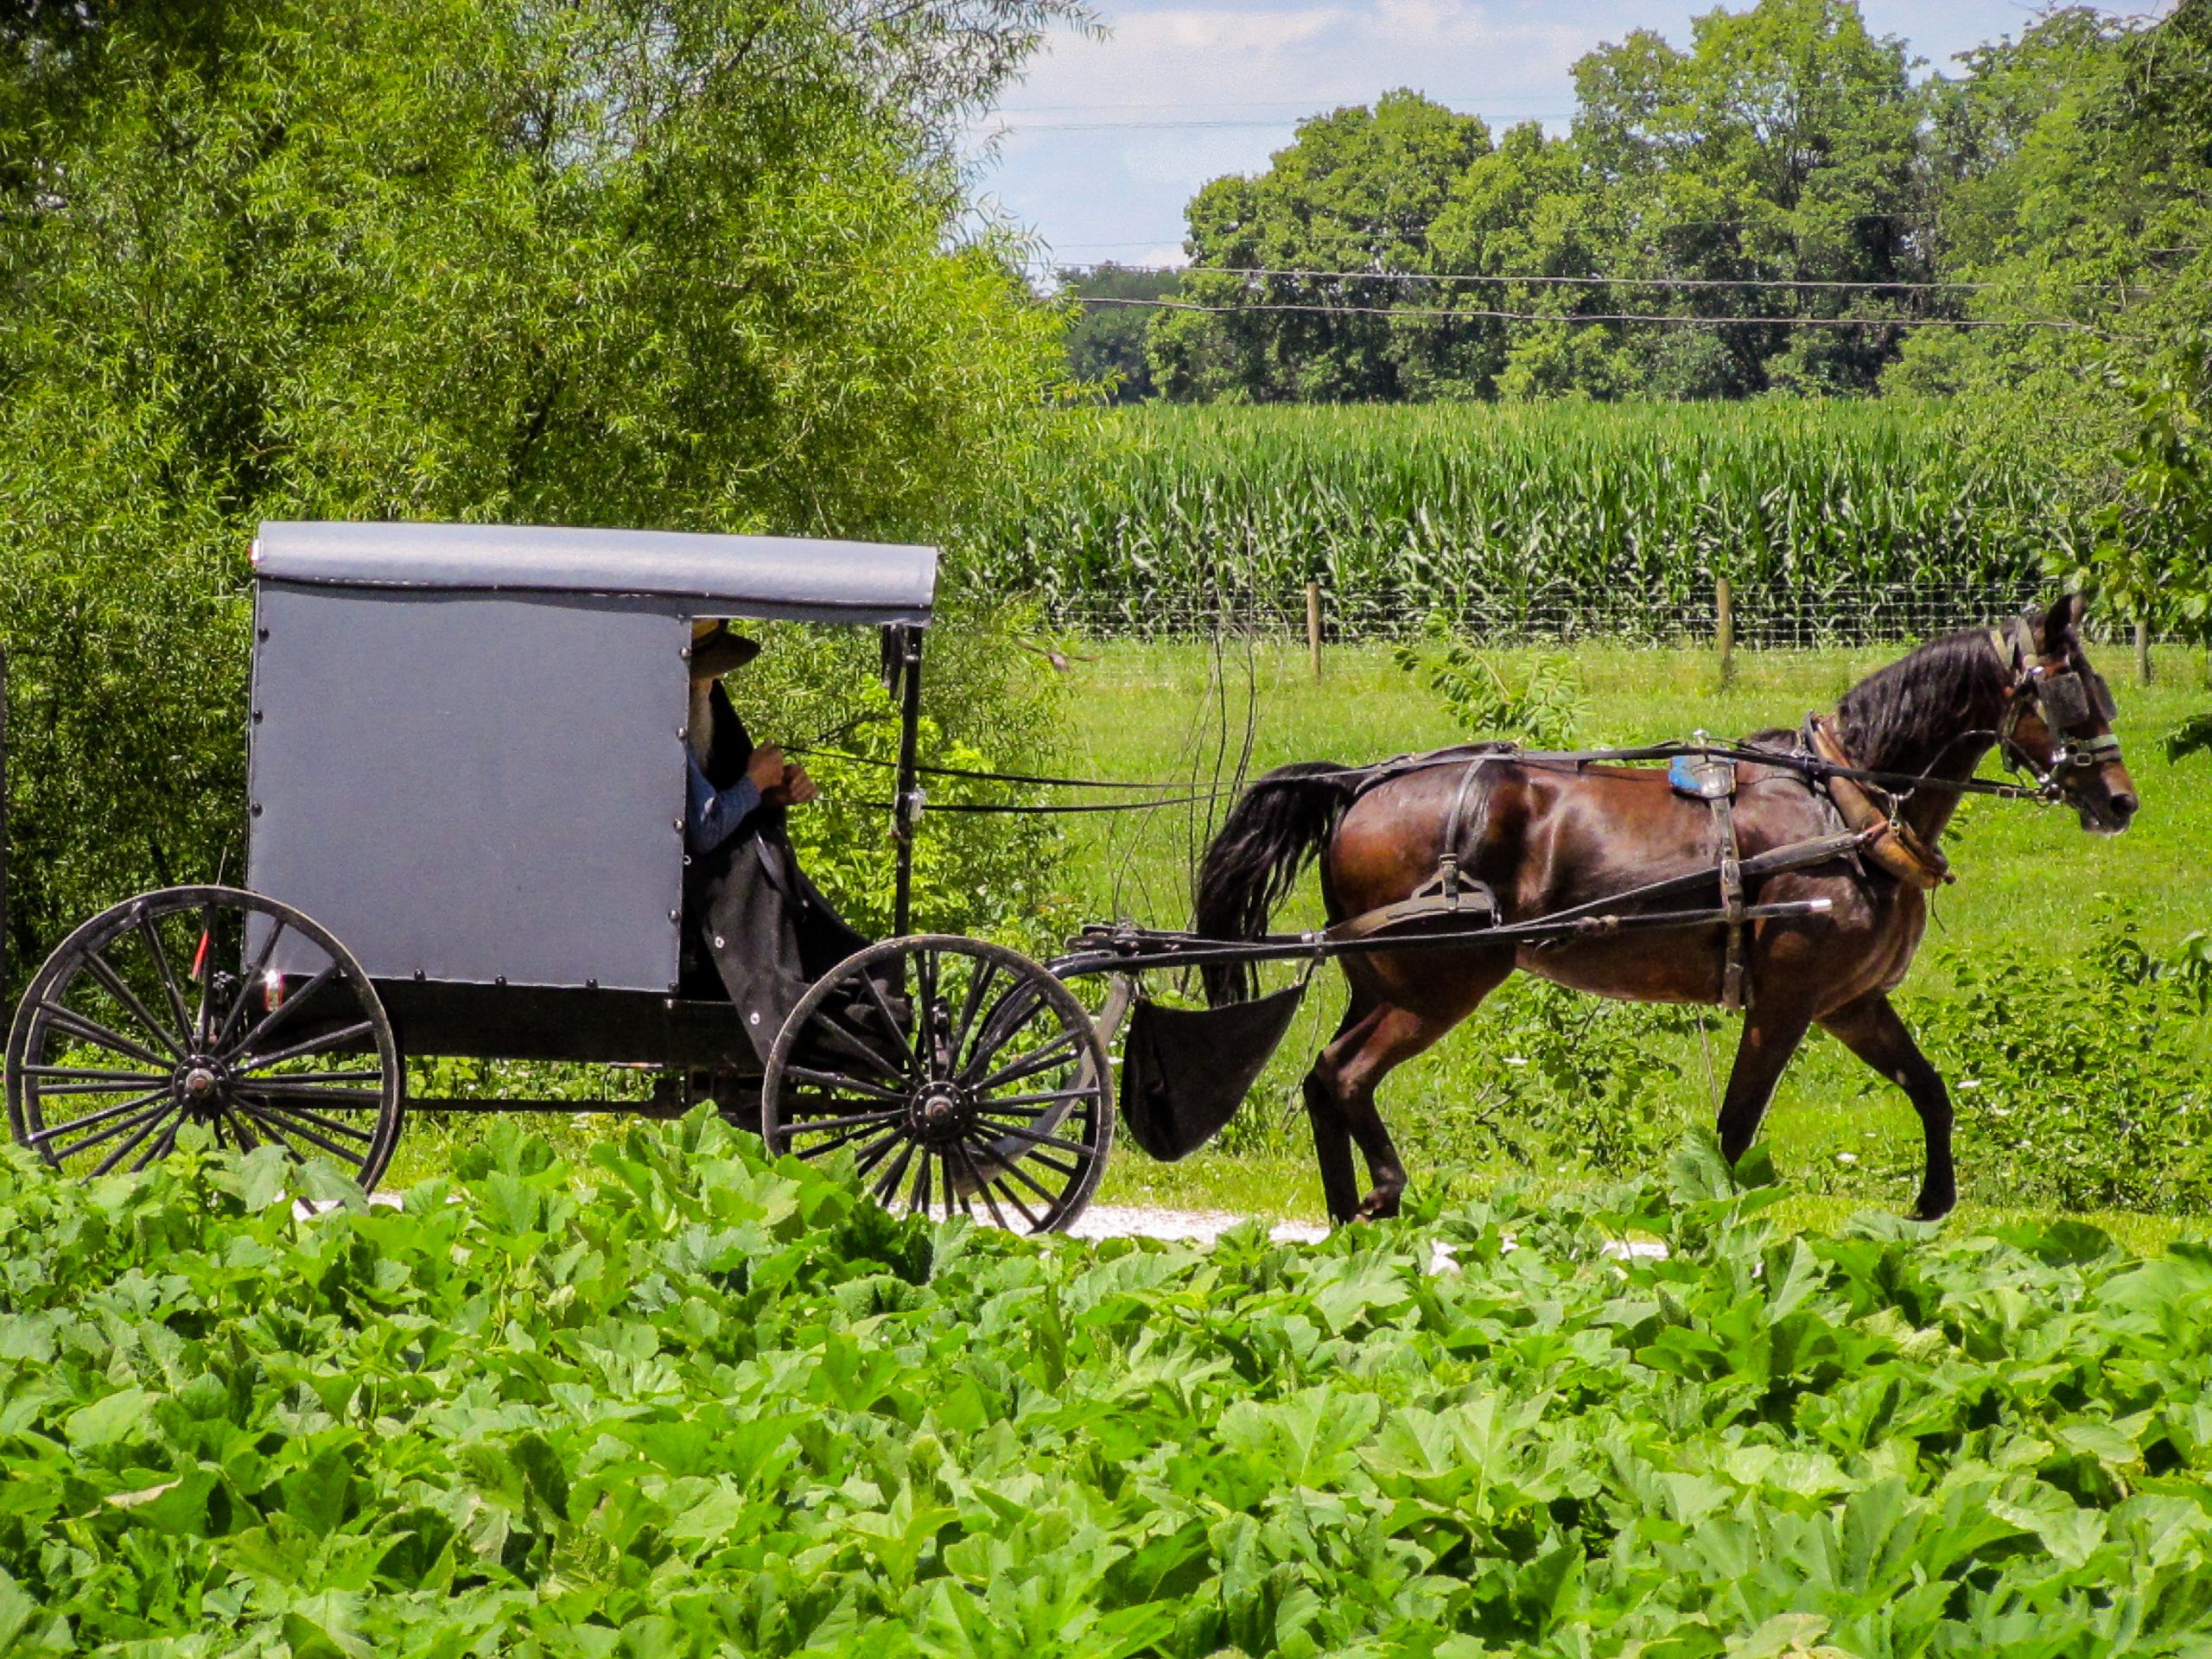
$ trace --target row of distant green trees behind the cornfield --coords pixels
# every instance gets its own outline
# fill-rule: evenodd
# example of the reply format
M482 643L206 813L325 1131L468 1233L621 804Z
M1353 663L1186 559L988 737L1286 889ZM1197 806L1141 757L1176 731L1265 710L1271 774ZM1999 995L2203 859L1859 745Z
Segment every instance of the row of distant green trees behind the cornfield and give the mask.
M1493 144L1407 91L1316 115L1265 173L1192 197L1183 294L1212 310L1155 319L1157 385L1254 403L1955 389L1989 352L1913 323L2093 321L2146 281L2166 292L2172 272L2137 254L2194 246L2174 215L2194 212L2205 111L2177 58L2201 15L2059 9L1916 80L1856 0L1756 0L1699 15L1681 46L1637 31L1584 55L1559 137ZM2117 159L2124 131L2159 124ZM1285 305L1325 310L1261 310ZM2079 365L2079 347L2046 334L2026 358Z

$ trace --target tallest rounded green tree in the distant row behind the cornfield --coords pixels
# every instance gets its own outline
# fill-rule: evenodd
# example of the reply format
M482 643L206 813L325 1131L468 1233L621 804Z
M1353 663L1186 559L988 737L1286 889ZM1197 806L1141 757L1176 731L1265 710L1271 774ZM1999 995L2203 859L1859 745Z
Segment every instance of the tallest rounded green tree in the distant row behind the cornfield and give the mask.
M1922 281L1933 197L1909 69L1905 42L1869 33L1856 0L1759 0L1697 18L1688 51L1639 31L1582 58L1575 144L1588 188L1617 204L1608 274ZM1635 383L1725 396L1871 389L1900 343L1889 321L1918 307L1878 288L1621 288L1606 310L1714 319L1710 334L1619 334Z

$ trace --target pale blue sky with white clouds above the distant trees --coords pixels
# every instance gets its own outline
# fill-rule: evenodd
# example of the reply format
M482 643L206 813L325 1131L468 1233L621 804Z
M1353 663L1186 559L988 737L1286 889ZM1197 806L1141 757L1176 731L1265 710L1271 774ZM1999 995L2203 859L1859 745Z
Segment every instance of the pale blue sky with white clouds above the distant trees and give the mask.
M2139 11L2152 0L2112 11ZM1000 113L987 201L1040 239L1040 263L1181 263L1183 201L1256 173L1301 115L1413 86L1493 128L1575 108L1571 64L1630 29L1690 40L1712 0L1099 0L1108 33L1057 35ZM1732 7L1741 9L1741 4ZM1860 0L1929 71L2017 33L2020 0Z

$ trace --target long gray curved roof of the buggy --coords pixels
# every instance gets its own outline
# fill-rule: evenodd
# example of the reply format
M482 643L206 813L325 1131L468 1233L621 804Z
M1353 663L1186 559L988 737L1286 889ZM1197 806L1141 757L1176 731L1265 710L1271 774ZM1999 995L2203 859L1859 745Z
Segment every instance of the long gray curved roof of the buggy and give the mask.
M529 524L265 522L268 582L425 593L597 593L670 613L790 622L929 622L938 551L785 535Z

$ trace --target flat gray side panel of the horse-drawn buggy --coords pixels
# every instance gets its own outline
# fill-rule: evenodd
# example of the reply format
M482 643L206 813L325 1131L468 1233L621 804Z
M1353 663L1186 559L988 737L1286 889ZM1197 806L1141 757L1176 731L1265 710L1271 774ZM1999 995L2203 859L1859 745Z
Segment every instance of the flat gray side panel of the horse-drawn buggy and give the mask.
M254 891L380 980L675 987L681 617L261 582L254 624Z

